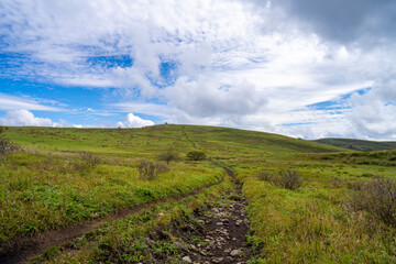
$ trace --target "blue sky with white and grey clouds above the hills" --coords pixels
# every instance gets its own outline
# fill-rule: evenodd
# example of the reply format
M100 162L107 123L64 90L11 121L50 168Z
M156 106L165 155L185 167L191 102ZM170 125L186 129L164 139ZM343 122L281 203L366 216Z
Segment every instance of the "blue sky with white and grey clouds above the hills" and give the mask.
M0 125L396 140L394 0L1 0Z

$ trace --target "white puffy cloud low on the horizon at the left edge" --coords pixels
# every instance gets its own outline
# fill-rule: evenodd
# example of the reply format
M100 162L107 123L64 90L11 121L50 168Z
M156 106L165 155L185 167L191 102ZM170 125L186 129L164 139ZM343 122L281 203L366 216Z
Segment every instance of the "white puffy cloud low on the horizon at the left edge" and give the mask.
M2 125L33 125L33 127L56 127L51 119L36 118L28 110L8 111L3 118L0 118Z

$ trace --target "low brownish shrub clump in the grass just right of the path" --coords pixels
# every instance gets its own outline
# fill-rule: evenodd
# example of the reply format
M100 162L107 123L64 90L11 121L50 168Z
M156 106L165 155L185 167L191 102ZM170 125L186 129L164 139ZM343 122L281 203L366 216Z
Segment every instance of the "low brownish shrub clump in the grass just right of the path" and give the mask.
M262 180L290 190L297 189L302 184L301 177L296 170L279 170L278 176L270 175L268 173L260 173L257 177Z

